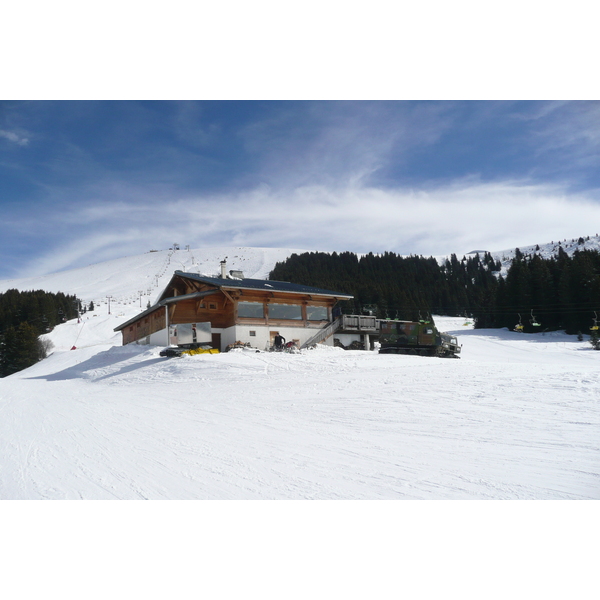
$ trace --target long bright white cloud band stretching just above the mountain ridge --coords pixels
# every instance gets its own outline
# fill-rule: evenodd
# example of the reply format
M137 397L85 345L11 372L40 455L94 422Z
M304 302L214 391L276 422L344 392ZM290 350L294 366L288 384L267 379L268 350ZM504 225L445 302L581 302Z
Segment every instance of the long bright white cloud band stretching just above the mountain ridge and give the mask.
M78 222L81 227L78 227ZM600 204L558 186L461 180L423 189L259 186L237 194L71 210L46 225L55 249L28 274L167 248L256 246L462 255L593 235ZM68 234L66 233L68 231ZM78 233L73 233L78 232ZM68 245L61 245L53 236Z

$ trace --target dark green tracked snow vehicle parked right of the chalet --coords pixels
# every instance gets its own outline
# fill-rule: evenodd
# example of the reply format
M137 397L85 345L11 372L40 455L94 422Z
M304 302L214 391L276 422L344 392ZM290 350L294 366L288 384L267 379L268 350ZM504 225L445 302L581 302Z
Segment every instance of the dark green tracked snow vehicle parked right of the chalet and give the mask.
M380 354L460 358L456 337L438 331L433 321L381 321L379 343Z

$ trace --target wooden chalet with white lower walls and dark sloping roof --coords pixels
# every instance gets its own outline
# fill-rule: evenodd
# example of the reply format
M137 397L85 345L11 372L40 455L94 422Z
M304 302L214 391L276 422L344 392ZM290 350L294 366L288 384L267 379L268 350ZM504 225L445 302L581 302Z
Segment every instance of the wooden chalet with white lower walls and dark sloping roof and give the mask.
M209 343L224 350L236 341L264 349L277 334L299 347L319 341L333 307L353 296L283 281L245 279L242 273L204 277L175 271L158 302L115 328L123 345ZM239 275L241 277L236 277ZM317 335L315 335L317 334ZM331 334L326 339L333 344Z

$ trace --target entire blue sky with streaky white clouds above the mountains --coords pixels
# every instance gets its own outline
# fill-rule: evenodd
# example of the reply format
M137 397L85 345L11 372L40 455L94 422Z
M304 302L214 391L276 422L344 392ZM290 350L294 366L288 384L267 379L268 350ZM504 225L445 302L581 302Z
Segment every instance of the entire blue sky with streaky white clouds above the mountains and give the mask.
M439 255L600 230L595 101L3 101L0 278L216 245Z

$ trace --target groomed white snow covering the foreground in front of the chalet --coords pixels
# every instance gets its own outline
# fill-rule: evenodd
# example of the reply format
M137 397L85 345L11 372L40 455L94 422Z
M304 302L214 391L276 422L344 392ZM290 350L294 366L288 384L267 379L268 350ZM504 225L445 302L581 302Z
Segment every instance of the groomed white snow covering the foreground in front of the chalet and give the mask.
M438 317L461 360L164 359L115 319L0 380L0 498L600 498L600 352L573 336Z

